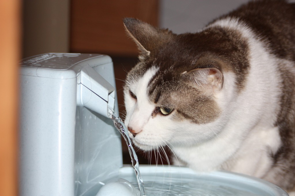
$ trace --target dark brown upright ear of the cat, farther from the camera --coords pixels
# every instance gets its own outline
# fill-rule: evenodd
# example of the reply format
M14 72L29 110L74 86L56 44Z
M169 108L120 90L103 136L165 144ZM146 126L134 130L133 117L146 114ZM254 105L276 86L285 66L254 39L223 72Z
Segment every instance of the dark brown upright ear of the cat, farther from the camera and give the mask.
M173 34L168 29L158 29L138 19L125 18L123 21L127 34L135 41L144 56L149 56Z

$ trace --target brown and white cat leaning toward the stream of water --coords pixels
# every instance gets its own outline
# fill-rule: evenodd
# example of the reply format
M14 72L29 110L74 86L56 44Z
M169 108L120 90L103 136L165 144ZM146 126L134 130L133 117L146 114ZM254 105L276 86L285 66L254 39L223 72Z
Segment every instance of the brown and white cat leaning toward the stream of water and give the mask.
M295 4L250 1L196 33L124 26L140 50L124 85L137 147L167 145L176 165L295 194Z

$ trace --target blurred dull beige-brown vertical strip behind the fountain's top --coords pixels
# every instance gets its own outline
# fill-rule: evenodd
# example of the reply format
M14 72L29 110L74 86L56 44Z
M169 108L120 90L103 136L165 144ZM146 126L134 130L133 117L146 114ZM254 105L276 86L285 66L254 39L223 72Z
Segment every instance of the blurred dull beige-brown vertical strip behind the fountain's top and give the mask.
M70 0L23 1L23 57L69 51Z

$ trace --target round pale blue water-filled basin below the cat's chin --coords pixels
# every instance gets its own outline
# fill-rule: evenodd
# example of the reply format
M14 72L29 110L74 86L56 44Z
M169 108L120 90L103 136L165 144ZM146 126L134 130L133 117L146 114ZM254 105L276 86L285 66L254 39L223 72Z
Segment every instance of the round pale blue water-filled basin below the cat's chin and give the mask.
M146 196L288 196L270 182L233 172L198 173L187 167L160 165L140 165L140 172ZM122 167L118 177L138 188L132 167ZM111 189L120 192L120 187Z

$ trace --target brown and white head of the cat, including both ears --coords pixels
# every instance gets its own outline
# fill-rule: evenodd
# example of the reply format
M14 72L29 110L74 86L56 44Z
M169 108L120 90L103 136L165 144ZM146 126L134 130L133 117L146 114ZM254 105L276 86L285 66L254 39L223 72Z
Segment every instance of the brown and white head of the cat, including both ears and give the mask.
M134 144L152 150L214 137L212 127L222 124L217 121L227 67L214 55L220 53L214 39L207 40L214 34L176 35L132 18L124 25L140 49L124 86L125 124Z

